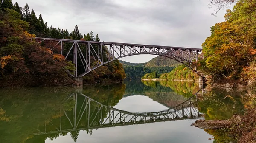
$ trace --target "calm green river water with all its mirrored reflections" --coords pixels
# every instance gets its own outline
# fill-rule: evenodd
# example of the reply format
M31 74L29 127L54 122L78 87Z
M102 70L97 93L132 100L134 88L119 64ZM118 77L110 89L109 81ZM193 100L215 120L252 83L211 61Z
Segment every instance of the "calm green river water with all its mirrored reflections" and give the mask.
M174 81L1 89L0 143L221 143L190 125L243 114L247 94Z

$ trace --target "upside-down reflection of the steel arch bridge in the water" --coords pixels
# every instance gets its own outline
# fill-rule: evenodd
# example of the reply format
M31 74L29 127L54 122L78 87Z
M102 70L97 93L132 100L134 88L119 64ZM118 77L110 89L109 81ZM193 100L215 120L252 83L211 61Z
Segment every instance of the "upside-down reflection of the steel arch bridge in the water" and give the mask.
M55 118L50 123L45 123L33 135L58 135L63 132L80 130L86 130L92 134L93 129L184 120L200 116L197 109L197 93L183 103L160 112L123 111L103 105L83 93L70 93L64 99L64 102L68 101L75 101L72 111L62 109L63 116ZM81 101L79 106L78 101Z

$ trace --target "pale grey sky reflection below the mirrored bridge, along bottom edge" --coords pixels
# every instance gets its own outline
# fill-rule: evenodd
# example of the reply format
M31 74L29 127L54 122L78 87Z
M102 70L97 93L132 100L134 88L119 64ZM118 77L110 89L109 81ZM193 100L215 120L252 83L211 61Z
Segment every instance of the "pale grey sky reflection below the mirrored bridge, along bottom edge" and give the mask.
M80 131L76 143L212 143L203 129L190 126L193 120L149 123L94 129L93 134ZM47 139L45 143L52 143ZM70 134L53 143L73 143Z

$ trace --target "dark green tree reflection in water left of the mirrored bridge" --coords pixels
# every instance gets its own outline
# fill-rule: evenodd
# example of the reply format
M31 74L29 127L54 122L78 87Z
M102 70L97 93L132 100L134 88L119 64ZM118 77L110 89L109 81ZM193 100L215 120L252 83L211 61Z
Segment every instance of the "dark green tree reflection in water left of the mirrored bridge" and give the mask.
M24 142L40 125L60 117L63 99L72 89L29 88L1 90L0 105L6 120L0 120L0 143ZM70 104L70 103L69 103ZM70 105L73 106L71 103Z

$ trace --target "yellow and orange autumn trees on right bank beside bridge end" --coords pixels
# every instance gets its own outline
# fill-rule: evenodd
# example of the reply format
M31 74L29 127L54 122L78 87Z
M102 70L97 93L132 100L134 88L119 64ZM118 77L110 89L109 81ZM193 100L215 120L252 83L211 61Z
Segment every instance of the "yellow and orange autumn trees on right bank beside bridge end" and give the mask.
M225 21L216 23L202 44L204 60L198 61L214 80L247 77L247 67L253 67L256 48L256 0L239 0L233 10L227 10ZM251 71L253 72L253 71Z

